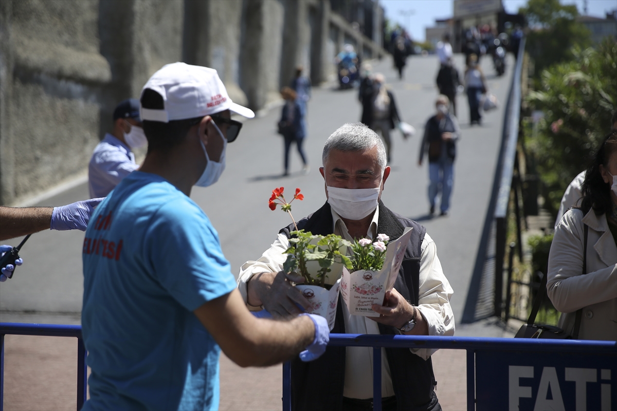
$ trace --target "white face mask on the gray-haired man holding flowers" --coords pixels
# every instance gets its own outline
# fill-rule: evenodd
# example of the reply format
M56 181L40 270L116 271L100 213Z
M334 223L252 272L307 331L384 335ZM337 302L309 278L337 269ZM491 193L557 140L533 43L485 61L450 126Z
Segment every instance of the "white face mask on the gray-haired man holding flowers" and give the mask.
M379 187L375 189L339 189L328 187L328 203L342 218L361 220L373 213L379 200Z

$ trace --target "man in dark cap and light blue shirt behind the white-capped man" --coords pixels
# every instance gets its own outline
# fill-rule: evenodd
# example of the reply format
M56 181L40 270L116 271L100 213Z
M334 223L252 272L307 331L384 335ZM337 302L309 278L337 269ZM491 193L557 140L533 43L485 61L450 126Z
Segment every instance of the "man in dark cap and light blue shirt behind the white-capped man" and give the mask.
M124 100L114 110L113 131L105 134L90 158L90 197L107 197L124 177L138 169L132 150L146 144L146 135L139 118L139 100Z

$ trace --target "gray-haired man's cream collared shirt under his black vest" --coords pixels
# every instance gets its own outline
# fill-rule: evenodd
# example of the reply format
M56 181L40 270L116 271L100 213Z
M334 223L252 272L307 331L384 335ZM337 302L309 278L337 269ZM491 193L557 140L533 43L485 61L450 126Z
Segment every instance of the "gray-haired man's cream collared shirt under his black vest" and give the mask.
M341 235L347 240L353 240L347 231L347 227L341 217L332 211L334 221L334 234ZM379 208L371 221L366 236L375 238ZM283 269L283 262L287 254L283 251L289 247L289 240L284 234L279 234L275 242L266 250L257 261L247 261L240 269L238 276L238 288L247 301L247 283L254 274L260 272L279 272ZM419 280L418 309L428 324L428 335L454 335L454 315L450 307L450 298L453 291L450 283L445 278L441 268L441 262L437 258L437 248L433 239L424 235L421 245L420 256L420 280ZM343 305L345 320L345 332L357 334L379 334L379 328L375 321L360 315L350 315L349 309ZM411 349L411 351L423 359L437 351L436 349ZM387 363L385 349L381 351L381 395L389 397L394 395L390 368ZM373 349L363 347L347 347L345 365L345 386L343 395L351 398L373 397Z

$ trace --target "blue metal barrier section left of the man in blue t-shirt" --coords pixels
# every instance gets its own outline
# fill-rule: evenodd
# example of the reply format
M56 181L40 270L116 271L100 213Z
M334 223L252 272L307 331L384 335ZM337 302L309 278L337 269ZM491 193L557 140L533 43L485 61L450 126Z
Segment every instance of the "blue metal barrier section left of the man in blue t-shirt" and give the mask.
M77 410L79 411L86 401L88 390L88 365L86 365L88 352L86 352L81 338L81 326L0 323L0 411L2 411L4 404L4 336L7 334L77 338Z

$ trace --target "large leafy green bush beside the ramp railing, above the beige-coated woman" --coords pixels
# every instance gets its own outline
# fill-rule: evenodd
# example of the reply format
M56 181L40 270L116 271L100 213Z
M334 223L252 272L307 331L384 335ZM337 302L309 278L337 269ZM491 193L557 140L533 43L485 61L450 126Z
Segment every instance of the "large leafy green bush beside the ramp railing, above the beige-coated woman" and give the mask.
M547 208L555 213L569 182L586 168L610 130L617 109L615 39L571 52L574 59L544 70L539 91L526 97L532 110L544 112L536 133L524 123L526 135L532 136L526 138L526 150L547 187Z

